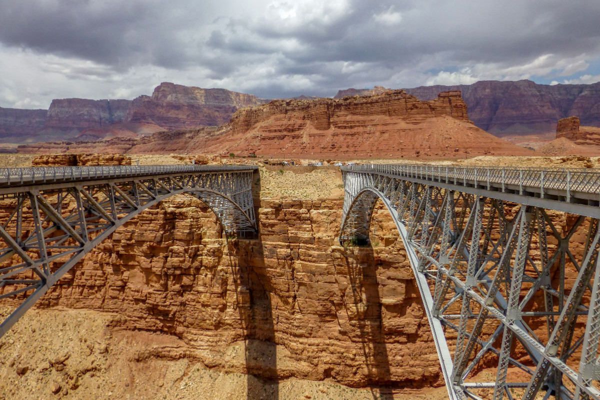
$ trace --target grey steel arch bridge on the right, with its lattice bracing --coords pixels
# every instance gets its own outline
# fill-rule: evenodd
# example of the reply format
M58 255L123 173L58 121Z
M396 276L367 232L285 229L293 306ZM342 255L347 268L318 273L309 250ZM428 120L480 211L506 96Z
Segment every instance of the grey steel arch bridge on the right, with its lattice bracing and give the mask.
M389 210L451 399L600 399L597 170L342 172L340 242L368 242Z

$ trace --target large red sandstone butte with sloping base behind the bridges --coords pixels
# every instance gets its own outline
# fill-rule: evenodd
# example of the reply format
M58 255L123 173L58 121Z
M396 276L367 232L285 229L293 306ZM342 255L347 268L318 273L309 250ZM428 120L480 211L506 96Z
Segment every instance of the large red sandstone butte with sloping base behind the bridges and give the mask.
M292 158L533 155L475 127L460 92L420 101L404 91L339 100L276 100L244 108L219 128L161 132L140 139L38 143L19 152L248 155ZM95 149L95 150L94 150Z

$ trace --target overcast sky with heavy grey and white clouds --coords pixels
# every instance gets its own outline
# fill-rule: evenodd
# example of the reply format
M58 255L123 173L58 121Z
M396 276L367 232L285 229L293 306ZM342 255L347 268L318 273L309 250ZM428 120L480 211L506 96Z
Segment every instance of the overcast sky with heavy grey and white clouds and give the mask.
M600 1L3 0L0 107L152 94L262 98L478 80L600 80Z

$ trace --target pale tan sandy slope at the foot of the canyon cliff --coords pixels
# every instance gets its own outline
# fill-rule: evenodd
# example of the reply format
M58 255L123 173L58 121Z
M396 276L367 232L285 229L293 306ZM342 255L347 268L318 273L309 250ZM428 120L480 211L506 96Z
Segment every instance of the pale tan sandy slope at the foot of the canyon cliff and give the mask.
M119 329L119 315L32 309L0 339L0 399L441 400L426 390L262 381L209 369L170 335ZM243 345L227 350L243 357ZM25 372L23 372L25 371ZM56 393L53 393L56 391Z

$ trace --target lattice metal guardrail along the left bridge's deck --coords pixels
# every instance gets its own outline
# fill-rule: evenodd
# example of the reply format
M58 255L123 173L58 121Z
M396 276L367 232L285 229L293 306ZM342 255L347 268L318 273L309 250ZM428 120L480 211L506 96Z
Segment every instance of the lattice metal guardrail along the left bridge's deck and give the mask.
M98 167L29 167L0 169L0 187L37 182L84 181L131 176L154 176L170 173L223 172L256 170L257 166L98 166Z

